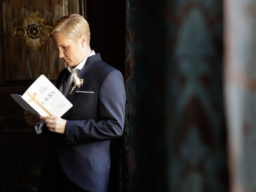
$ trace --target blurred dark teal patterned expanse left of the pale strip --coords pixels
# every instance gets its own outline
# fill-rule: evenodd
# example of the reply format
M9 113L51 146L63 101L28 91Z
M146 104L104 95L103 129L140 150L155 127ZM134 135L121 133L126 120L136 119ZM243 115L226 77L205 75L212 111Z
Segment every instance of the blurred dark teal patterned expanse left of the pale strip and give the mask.
M222 1L128 2L130 191L227 192Z

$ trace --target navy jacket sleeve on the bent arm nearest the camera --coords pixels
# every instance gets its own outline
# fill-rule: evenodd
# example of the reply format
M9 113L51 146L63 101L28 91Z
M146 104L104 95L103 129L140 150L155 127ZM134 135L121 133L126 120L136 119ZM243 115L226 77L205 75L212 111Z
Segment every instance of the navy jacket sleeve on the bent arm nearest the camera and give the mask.
M108 72L98 94L100 120L68 120L66 136L71 142L96 142L122 136L125 117L125 88L118 70Z

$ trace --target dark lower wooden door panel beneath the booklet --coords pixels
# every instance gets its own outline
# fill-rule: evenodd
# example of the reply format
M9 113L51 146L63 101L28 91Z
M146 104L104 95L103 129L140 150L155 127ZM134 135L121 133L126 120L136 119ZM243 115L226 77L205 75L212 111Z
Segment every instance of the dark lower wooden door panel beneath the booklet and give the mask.
M35 191L47 152L47 136L22 126L2 128L0 136L4 159L1 191Z

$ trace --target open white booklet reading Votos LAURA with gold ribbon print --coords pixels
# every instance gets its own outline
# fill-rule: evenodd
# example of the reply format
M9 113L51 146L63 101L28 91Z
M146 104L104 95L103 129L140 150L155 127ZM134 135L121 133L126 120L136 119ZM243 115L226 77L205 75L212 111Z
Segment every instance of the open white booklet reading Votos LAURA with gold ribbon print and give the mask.
M38 117L61 117L73 106L44 75L38 77L22 96L18 94L11 96L24 110ZM42 120L40 123L43 123Z

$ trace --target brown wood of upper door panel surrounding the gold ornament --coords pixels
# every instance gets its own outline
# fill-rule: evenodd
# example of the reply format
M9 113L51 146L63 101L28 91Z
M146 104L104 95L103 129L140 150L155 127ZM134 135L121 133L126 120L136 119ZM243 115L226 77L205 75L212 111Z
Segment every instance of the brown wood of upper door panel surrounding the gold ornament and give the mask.
M45 25L52 26L62 16L62 0L14 1L3 2L3 59L4 81L35 80L41 74L56 79L64 62L58 58L58 50L54 48L52 39L46 38L45 43L34 52L23 43L18 36L11 36L15 26L22 25L23 19L31 12L44 19ZM10 11L11 10L11 11Z

